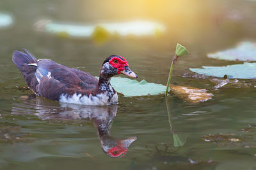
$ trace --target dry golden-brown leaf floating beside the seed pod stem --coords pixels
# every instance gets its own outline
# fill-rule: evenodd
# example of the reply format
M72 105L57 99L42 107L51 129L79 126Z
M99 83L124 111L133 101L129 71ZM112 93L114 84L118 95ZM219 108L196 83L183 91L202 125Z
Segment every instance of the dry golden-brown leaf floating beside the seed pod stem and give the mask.
M176 86L173 84L170 84L170 88L177 97L191 103L205 102L213 96L212 93L207 93L206 89Z

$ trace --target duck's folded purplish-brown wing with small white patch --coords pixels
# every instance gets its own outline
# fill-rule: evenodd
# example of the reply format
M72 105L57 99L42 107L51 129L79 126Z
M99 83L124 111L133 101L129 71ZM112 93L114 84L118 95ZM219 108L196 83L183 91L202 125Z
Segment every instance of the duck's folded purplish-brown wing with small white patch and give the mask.
M36 67L35 75L39 82L38 95L51 100L59 100L61 94L89 94L97 86L97 82L85 83L80 78L83 76L79 77L79 73L77 75L72 68L60 65L50 59L41 59ZM85 75L83 78L86 80Z

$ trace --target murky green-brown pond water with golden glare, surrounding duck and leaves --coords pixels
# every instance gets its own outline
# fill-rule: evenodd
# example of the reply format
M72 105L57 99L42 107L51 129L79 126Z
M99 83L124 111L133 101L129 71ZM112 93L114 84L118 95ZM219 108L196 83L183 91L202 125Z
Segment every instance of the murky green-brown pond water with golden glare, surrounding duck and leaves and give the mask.
M1 169L256 169L255 80L214 90L213 77L189 71L243 63L209 59L207 53L256 41L255 1L2 0L0 12L13 19L0 28ZM82 24L156 20L166 31L95 44L90 38L38 31L35 23L42 19ZM212 100L190 104L172 93L167 98L119 94L118 105L86 107L26 99L31 91L15 89L26 83L12 63L14 50L26 48L38 59L95 76L106 57L118 54L139 81L166 84L177 42L189 55L175 64L172 83L205 88ZM175 147L177 137L180 147ZM126 147L121 157L110 157L106 150L120 143Z

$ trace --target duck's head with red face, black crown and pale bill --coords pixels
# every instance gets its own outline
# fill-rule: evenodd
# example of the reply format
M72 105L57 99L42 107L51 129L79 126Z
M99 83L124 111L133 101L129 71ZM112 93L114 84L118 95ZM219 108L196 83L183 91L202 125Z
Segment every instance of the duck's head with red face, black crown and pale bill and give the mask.
M126 59L124 59L122 56L109 56L105 59L102 67L100 68L100 77L103 76L106 78L110 78L120 73L128 75L130 77L138 78L138 75L132 72Z

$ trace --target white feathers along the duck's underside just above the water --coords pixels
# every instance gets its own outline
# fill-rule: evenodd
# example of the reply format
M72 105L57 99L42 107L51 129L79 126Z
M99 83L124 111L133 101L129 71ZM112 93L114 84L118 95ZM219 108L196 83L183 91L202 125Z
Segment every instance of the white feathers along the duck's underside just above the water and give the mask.
M60 96L60 102L71 103L71 104L83 104L83 105L111 105L117 104L118 95L115 93L109 102L108 92L100 93L96 96L86 95L82 96L81 94L74 94L71 97L68 97L67 94L62 94Z

